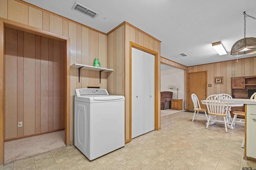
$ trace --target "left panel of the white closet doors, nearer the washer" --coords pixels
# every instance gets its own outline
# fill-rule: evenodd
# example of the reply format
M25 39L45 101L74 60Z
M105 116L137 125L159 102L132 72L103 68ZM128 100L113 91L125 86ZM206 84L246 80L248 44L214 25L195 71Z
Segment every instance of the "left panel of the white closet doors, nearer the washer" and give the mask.
M132 138L144 134L144 51L132 48Z

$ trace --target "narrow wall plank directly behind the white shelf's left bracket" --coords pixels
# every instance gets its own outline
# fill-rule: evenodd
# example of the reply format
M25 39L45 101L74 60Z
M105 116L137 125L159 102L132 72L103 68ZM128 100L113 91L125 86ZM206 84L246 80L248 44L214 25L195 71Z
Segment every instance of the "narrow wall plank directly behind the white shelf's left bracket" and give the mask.
M82 26L76 25L76 63L82 63ZM78 69L76 69L76 75L78 75ZM76 78L76 88L82 88L82 78L80 77L80 82L78 81L78 76Z

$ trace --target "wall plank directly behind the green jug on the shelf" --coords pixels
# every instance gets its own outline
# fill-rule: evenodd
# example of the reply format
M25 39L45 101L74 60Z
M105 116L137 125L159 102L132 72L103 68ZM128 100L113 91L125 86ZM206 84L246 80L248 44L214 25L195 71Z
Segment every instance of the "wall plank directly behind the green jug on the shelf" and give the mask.
M99 58L99 35L97 32L89 30L89 42L89 65L93 66L94 59ZM98 86L100 84L99 72L89 70L89 75L90 79L88 86Z

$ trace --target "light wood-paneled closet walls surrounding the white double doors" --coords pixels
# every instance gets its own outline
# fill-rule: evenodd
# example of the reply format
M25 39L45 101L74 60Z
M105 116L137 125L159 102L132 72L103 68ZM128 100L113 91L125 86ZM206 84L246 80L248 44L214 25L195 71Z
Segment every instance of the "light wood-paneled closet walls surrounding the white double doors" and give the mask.
M108 91L114 95L125 96L125 141L130 137L130 41L158 53L156 71L160 82L160 41L148 35L133 25L124 22L110 31L107 35L108 68L114 72L108 74ZM159 91L160 84L156 87ZM158 129L160 129L160 102L158 106Z

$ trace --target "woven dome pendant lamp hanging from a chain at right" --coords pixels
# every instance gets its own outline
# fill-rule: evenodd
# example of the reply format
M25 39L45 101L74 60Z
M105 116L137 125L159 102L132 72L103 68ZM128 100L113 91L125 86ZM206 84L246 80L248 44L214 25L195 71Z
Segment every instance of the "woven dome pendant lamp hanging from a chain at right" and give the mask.
M256 53L256 38L254 37L248 37L246 38L246 17L250 17L253 18L254 20L256 20L256 18L252 17L252 16L248 16L245 12L244 12L244 38L240 39L238 41L236 41L234 43L234 45L231 48L231 52L230 55L234 55L234 56L240 56L240 55L244 55L244 54L254 54Z

